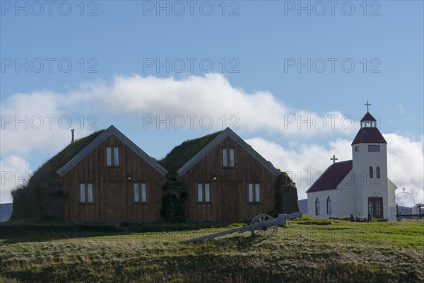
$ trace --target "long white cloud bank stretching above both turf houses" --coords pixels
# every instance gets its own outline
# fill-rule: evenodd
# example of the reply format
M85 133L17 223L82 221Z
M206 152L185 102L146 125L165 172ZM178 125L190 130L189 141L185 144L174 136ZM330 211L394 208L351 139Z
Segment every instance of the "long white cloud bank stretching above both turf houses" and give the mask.
M166 120L170 115L171 127L172 117L182 115L186 129L190 125L187 115L197 115L193 118L197 128L207 127L210 120L201 123L201 117L210 115L212 129L222 129L223 125L228 127L237 122L235 126L244 131L266 130L291 138L350 134L351 127L358 127L352 125L350 116L343 116L341 112L296 110L268 91L246 93L231 86L221 74L189 76L181 80L115 76L110 84L103 81L83 83L69 93L16 93L2 102L1 113L1 154L57 151L69 142L72 127L78 127L80 136L90 132L87 123L80 127L78 119L87 113L99 119L112 114L124 115L127 119L136 117L133 122L142 122L141 115L154 115L155 120ZM175 123L179 125L180 121ZM156 123L146 127L154 128Z

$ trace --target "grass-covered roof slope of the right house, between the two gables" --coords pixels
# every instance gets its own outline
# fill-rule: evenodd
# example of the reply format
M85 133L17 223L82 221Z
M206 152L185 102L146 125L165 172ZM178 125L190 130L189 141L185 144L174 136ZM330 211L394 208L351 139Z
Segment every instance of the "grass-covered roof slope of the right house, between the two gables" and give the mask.
M184 141L179 146L175 146L165 158L159 161L160 165L165 167L169 173L177 173L178 169L181 168L187 161L192 159L206 144L210 143L215 139L218 134L222 131L208 134L204 137L197 139L189 139Z

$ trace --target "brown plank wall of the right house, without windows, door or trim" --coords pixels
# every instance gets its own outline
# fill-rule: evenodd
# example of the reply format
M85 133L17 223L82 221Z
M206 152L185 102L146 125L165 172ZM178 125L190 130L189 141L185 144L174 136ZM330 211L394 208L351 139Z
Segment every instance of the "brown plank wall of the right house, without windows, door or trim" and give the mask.
M235 148L235 168L221 168L222 148ZM217 178L216 182L213 182L213 175ZM269 213L274 210L276 204L276 176L230 137L182 175L181 180L189 188L186 210L189 221L225 221L221 215L221 190L230 183L237 183L238 221L250 221L258 214ZM197 183L211 184L210 204L197 202ZM260 184L260 203L248 202L248 183Z

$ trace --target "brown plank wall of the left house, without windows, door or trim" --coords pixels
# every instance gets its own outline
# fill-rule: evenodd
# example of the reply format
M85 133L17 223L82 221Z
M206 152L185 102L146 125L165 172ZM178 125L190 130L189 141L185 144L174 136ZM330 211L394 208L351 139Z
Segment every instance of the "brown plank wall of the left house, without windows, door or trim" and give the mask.
M106 167L106 147L119 146L118 167ZM126 180L131 175L131 181ZM64 175L65 221L73 223L105 223L102 191L106 183L121 184L122 221L129 223L160 221L162 186L165 176L131 151L114 136L109 137L86 158ZM134 183L147 184L147 203L134 203ZM80 203L80 184L93 183L93 204Z

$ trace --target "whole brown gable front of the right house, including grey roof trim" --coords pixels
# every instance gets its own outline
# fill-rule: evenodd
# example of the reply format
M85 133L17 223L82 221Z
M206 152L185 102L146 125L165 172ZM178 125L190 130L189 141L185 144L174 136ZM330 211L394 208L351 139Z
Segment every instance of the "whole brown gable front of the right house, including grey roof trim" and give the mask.
M249 221L272 212L280 171L230 128L216 134L177 171L187 185L187 219Z

